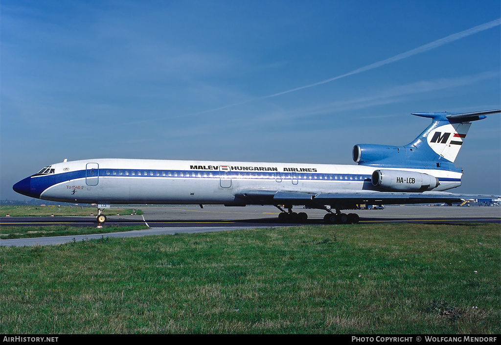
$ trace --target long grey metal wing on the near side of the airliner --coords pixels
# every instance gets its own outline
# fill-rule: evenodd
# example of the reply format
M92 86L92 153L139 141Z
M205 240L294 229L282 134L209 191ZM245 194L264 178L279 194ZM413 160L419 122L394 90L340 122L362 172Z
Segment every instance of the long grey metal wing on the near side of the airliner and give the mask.
M427 204L457 203L473 199L497 199L494 195L470 195L445 192L396 193L396 192L364 192L364 193L321 193L293 192L273 190L245 190L236 197L242 201L258 202L273 205L331 205L339 209L354 208L359 204Z

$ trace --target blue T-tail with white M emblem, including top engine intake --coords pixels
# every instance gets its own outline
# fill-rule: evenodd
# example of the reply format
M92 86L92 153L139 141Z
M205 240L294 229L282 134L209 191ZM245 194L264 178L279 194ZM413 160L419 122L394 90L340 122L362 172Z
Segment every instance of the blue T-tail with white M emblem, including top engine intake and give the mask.
M413 113L431 118L432 123L411 143L404 146L358 144L353 147L353 160L360 165L376 167L460 172L461 169L453 163L471 122L500 112L501 109L471 113Z

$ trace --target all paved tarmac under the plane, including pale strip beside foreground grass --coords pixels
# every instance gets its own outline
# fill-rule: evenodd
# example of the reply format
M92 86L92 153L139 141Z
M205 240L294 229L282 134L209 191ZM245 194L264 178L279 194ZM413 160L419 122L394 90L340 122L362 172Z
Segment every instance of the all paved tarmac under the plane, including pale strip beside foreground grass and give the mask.
M279 211L269 206L224 207L224 206L146 206L140 207L144 215L116 216L113 209L106 210L108 217L104 227L147 225L148 230L104 234L105 237L134 237L175 233L196 233L228 231L249 228L297 226L299 224L280 223ZM295 209L306 212L305 224L324 224L324 211ZM428 207L428 206L387 206L384 210L357 210L359 224L376 223L431 223L431 224L501 224L499 207ZM9 226L50 226L70 225L76 227L95 227L96 219L88 217L1 217L0 225ZM356 225L345 225L347 227ZM103 235L59 236L30 239L1 240L0 246L33 246L60 244L71 241L101 238Z

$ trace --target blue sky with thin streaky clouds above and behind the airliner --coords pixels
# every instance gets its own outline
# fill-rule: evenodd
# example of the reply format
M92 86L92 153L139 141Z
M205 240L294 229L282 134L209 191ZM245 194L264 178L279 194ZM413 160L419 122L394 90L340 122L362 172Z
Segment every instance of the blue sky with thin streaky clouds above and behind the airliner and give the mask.
M479 5L480 4L480 5ZM0 3L0 198L69 160L352 164L412 112L501 108L501 4ZM501 116L474 122L455 193L501 193Z

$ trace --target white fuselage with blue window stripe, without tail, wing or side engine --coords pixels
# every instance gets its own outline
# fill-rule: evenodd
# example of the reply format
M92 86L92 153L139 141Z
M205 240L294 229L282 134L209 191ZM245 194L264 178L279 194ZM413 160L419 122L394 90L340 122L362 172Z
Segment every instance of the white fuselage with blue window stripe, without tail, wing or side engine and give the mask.
M51 165L50 174L31 177L40 199L100 204L237 203L245 190L308 193L376 191L376 167L270 162L222 162L152 159L89 159ZM388 168L387 168L388 169ZM390 168L391 169L391 168ZM406 169L438 178L434 191L460 185L460 172Z

